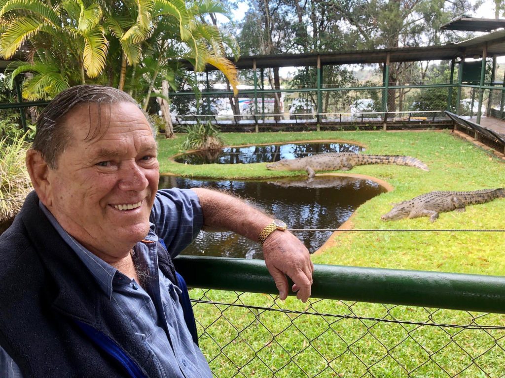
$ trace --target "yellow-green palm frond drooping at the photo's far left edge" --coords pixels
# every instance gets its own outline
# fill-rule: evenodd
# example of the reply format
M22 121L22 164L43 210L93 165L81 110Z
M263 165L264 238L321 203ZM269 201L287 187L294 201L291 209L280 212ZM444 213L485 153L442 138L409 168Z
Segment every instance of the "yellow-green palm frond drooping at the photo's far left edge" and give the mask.
M19 17L14 20L0 38L0 56L9 59L27 38L32 38L39 32L41 25L40 21L31 17Z

